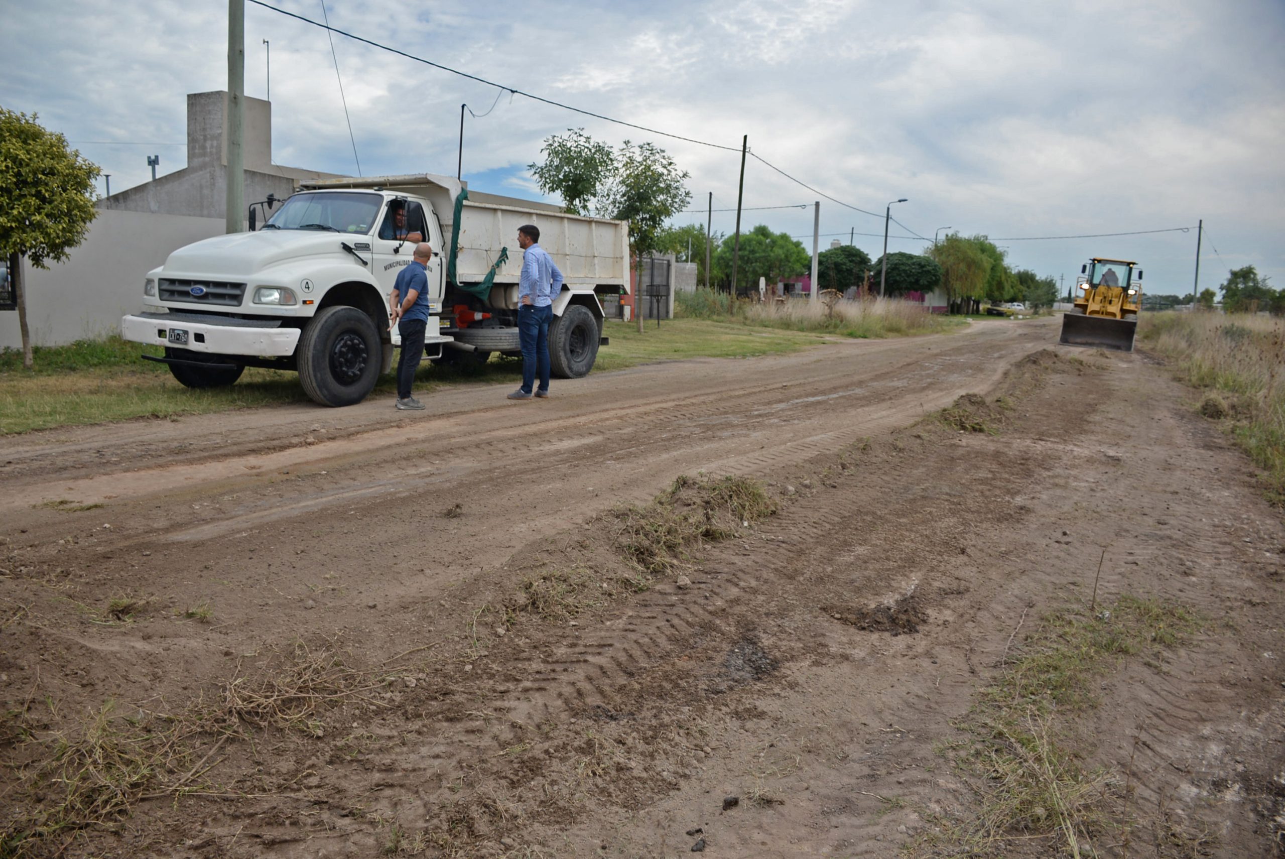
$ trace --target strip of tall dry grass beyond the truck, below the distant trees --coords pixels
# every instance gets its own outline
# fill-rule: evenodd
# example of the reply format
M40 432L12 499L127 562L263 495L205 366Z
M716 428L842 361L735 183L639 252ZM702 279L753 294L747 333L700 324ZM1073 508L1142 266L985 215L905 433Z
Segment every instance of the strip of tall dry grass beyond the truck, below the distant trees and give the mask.
M900 298L835 302L792 298L761 303L738 300L727 293L696 289L677 293L678 316L734 321L744 325L819 332L842 337L891 337L928 334L955 328L960 323L933 315L923 305Z

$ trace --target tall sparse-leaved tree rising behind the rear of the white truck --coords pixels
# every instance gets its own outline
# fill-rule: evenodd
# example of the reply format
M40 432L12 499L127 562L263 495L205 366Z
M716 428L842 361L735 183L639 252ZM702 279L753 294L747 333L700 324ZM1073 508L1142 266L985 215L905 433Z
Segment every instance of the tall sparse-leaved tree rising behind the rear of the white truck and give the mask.
M626 140L616 152L583 129L547 138L541 152L545 163L529 168L542 193L562 197L574 215L630 222L630 247L641 279L642 257L657 252L664 222L691 202L691 192L682 184L687 172L655 144ZM635 315L641 332L642 314Z

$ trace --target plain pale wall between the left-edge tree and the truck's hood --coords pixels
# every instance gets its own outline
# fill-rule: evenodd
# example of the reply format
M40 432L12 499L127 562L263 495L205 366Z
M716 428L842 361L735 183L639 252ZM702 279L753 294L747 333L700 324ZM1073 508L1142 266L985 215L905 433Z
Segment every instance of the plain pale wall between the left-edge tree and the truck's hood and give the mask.
M59 346L120 333L143 306L143 278L184 244L224 233L221 217L99 211L84 244L49 270L23 262L31 342ZM0 312L0 347L22 347L18 312Z

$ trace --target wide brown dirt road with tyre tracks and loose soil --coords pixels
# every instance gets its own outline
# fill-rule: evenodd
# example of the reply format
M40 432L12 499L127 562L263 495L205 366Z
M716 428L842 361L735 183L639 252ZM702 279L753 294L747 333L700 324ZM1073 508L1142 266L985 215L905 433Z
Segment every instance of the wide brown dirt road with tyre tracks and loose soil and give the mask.
M980 323L640 366L547 401L460 387L420 414L10 440L0 683L22 715L0 750L30 766L53 746L23 739L82 737L108 701L184 727L125 779L116 833L28 844L897 855L968 814L939 747L1037 619L1088 598L1106 549L1100 598L1212 619L1159 670L1124 660L1081 725L1086 760L1127 772L1135 855L1271 856L1280 517L1162 366L1041 352L1055 339ZM988 432L911 426L968 392L1004 396ZM698 472L763 481L779 513L650 570L622 557L619 505ZM887 628L906 634L851 622L911 597ZM6 779L6 826L30 829L59 782Z

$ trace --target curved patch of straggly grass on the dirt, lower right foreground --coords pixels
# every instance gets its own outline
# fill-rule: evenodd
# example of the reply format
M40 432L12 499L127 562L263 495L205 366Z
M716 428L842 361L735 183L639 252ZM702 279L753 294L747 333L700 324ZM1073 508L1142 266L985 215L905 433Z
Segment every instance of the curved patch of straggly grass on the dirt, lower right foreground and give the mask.
M1092 615L1047 615L959 724L969 738L950 755L978 795L977 813L932 819L907 855L1002 856L1022 846L1087 856L1104 836L1127 837L1126 779L1083 764L1091 750L1077 718L1097 706L1101 676L1124 658L1158 661L1200 626L1177 603L1128 595Z

